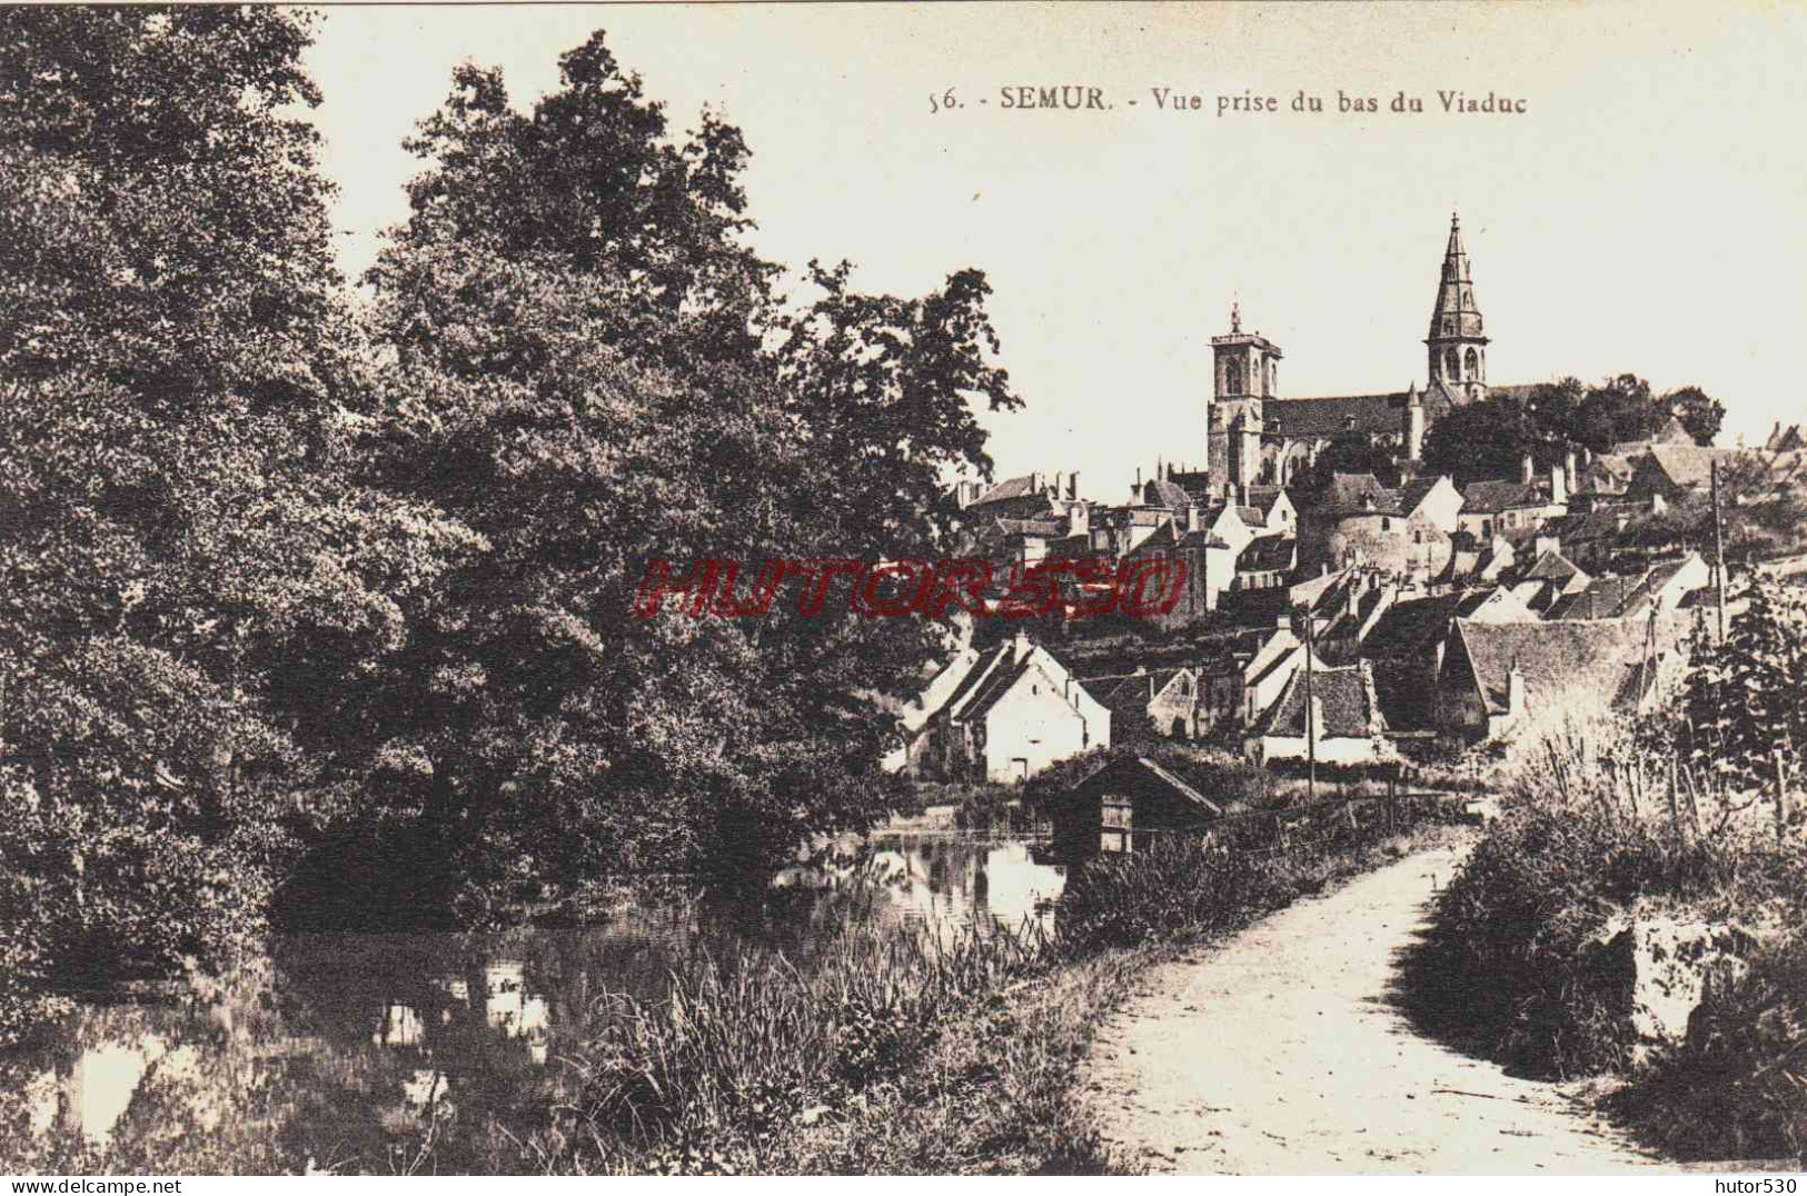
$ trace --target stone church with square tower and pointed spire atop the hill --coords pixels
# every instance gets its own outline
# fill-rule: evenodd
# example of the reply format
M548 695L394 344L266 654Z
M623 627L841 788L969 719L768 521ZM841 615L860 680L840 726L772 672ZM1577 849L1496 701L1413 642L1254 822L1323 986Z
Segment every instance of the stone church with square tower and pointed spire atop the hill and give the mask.
M1420 390L1350 394L1317 399L1279 396L1279 345L1241 331L1211 338L1212 394L1205 437L1205 473L1173 475L1196 490L1227 495L1247 486L1292 484L1335 439L1366 437L1386 448L1404 473L1424 450L1424 434L1449 410L1485 396L1529 397L1534 387L1487 385L1487 332L1475 302L1475 280L1462 248L1462 222L1449 219L1442 278L1424 338L1428 381Z

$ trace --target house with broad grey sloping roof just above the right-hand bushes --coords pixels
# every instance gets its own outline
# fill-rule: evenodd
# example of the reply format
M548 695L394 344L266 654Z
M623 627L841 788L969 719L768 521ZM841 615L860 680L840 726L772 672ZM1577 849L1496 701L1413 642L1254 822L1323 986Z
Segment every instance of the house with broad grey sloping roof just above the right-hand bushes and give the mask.
M1437 730L1496 739L1545 712L1635 708L1677 659L1686 618L1475 623L1449 629L1431 697Z

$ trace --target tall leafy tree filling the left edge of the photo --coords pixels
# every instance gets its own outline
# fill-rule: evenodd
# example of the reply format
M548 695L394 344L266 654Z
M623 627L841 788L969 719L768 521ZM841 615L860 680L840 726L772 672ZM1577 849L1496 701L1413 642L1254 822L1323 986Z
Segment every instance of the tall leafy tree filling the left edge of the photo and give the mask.
M367 775L338 683L475 544L343 473L361 367L295 116L307 40L276 9L0 13L11 976L255 932L293 833Z

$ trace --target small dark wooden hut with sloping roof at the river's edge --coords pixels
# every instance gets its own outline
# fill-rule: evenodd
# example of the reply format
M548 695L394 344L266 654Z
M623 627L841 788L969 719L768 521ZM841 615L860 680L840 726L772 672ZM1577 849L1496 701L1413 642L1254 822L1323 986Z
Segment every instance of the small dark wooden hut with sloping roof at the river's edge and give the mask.
M1100 851L1147 851L1160 833L1196 831L1223 817L1209 773L1171 755L1120 753L1048 802L1055 856L1079 864Z

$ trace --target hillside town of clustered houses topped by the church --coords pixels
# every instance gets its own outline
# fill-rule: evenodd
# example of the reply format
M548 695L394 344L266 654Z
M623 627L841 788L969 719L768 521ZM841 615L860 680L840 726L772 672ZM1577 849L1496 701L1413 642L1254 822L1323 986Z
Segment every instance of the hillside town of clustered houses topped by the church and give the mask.
M1149 737L1281 766L1411 759L1500 739L1540 710L1635 712L1690 638L1738 609L1740 578L1807 580L1798 551L1729 560L1724 531L1735 506L1798 499L1802 425L1776 423L1760 446L1702 446L1671 416L1610 452L1527 453L1509 477L1426 468L1426 439L1451 412L1536 399L1534 385L1489 383L1487 345L1453 217L1422 385L1283 397L1281 349L1232 307L1229 332L1211 338L1200 461L1155 461L1120 500L1084 497L1063 472L958 486L963 547L997 578L1037 562L1109 575L1178 558L1187 580L1149 620L963 627L889 766L1016 782ZM1350 446L1375 468L1335 468ZM1697 508L1711 533L1673 517ZM997 641L978 643L985 632Z

